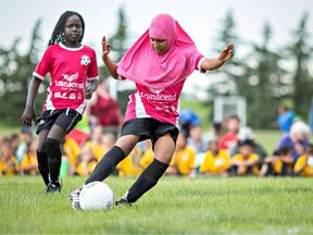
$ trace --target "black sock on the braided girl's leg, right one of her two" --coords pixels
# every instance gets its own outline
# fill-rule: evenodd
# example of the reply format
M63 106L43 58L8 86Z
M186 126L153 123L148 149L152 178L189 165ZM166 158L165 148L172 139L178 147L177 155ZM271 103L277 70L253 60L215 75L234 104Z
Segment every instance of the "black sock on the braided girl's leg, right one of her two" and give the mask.
M48 152L48 168L50 174L50 181L59 184L59 175L61 168L62 152L60 141L52 138L46 139L46 148Z

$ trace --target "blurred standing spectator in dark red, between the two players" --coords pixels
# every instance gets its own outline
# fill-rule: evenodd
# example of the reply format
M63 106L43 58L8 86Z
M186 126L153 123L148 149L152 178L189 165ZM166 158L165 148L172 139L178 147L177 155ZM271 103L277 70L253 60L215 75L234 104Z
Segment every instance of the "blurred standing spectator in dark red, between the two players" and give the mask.
M117 101L109 92L107 79L102 79L98 85L92 98L88 101L86 113L92 127L102 125L104 132L112 132L115 137L117 136L122 115Z

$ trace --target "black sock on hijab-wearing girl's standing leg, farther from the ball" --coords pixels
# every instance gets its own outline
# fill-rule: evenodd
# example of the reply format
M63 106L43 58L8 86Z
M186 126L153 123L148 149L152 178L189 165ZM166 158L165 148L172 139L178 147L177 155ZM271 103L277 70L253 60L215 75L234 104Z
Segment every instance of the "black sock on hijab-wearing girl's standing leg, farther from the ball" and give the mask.
M156 159L141 173L138 180L133 184L127 194L127 201L133 203L137 201L146 191L151 189L164 174L168 164Z

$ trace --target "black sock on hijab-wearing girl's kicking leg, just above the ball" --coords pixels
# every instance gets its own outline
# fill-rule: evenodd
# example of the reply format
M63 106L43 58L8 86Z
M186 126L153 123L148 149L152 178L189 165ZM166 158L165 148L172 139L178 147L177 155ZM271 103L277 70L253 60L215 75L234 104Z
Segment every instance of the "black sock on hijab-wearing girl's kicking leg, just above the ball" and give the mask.
M107 178L113 171L113 169L125 158L124 151L114 146L110 151L108 151L101 161L96 165L91 175L87 178L85 184L95 181L103 181Z

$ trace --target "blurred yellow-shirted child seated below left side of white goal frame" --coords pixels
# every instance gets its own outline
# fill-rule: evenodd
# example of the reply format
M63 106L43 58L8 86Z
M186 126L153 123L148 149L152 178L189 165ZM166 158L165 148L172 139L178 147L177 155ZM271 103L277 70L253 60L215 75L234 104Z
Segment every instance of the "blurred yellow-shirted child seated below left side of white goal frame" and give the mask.
M204 161L200 166L203 175L227 176L230 168L230 158L227 151L218 148L218 139L212 139L209 151L204 153Z

